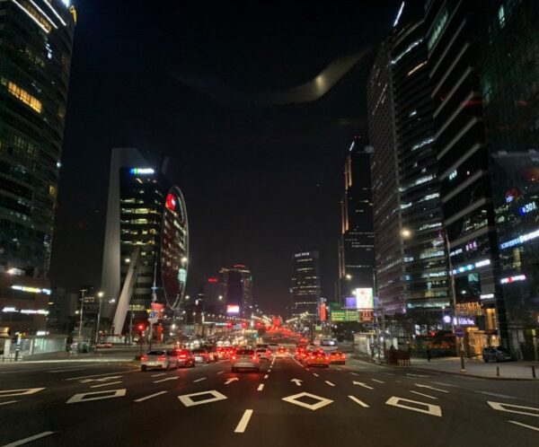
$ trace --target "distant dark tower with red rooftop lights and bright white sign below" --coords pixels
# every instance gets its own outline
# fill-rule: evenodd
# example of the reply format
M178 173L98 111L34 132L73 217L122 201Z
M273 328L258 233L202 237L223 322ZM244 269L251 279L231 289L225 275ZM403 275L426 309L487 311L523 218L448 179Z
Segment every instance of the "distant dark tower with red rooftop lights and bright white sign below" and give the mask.
M219 271L223 300L226 306L238 306L237 313L251 316L252 313L252 274L243 264L223 267ZM227 307L231 314L236 308Z

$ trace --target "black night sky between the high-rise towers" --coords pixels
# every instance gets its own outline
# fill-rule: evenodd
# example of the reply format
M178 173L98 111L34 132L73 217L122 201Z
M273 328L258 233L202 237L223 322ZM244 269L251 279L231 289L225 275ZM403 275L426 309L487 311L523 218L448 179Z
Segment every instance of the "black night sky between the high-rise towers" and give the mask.
M110 148L129 146L171 157L190 220L188 293L242 263L261 308L285 313L292 253L318 249L332 297L344 159L366 134L373 54L317 101L252 98L376 49L400 2L194 3L75 2L53 285L99 286Z

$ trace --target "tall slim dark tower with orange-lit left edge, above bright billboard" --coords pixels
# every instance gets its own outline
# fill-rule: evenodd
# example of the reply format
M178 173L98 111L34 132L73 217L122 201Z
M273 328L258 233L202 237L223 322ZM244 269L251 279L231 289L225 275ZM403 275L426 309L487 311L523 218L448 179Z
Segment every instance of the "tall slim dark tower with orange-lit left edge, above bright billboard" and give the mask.
M339 300L358 287L373 287L375 234L370 181L372 148L354 138L344 168L340 199Z

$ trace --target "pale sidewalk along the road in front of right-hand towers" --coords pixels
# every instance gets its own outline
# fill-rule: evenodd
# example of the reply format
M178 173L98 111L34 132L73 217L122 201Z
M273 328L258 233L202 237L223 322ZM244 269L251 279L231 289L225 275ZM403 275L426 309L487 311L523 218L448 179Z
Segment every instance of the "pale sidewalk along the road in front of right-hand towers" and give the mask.
M505 362L488 363L470 362L464 359L466 372L461 373L461 363L458 357L433 358L430 362L424 358L412 358L411 367L438 373L455 373L459 375L483 377L489 379L527 379L534 380L532 366L535 366L535 375L539 378L539 363L537 362ZM497 375L499 368L499 375ZM539 380L539 379L535 379Z

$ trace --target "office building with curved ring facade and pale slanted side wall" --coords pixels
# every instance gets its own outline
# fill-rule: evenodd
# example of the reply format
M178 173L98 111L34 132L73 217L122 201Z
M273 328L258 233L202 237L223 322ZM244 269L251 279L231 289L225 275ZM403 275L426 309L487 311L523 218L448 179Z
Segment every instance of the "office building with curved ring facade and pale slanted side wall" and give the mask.
M180 188L137 149L113 149L102 267L103 316L124 331L126 314L146 320L177 308L187 281L189 230ZM109 300L116 300L110 306Z

